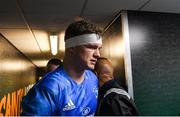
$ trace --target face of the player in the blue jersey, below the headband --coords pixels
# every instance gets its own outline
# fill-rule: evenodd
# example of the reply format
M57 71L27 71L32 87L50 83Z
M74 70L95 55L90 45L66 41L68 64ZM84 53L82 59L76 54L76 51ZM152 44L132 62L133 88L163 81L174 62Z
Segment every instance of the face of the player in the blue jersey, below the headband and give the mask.
M77 58L84 69L94 69L97 58L100 57L102 44L87 44L77 47ZM75 61L76 62L76 61Z

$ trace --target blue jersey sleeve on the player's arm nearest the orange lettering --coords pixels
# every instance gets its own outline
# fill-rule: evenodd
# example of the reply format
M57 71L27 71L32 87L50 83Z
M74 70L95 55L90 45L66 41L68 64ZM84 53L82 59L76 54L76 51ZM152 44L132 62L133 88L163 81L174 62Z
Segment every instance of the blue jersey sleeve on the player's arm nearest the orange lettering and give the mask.
M33 87L23 98L21 115L52 115L55 111L55 98L51 90L45 87Z

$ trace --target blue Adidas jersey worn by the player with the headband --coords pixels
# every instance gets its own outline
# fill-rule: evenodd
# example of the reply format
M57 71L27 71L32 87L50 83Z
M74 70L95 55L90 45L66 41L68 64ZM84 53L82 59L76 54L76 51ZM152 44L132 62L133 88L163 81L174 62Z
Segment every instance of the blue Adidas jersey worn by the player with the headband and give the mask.
M22 101L21 115L93 115L96 111L98 81L86 70L84 81L77 84L63 68L47 74Z

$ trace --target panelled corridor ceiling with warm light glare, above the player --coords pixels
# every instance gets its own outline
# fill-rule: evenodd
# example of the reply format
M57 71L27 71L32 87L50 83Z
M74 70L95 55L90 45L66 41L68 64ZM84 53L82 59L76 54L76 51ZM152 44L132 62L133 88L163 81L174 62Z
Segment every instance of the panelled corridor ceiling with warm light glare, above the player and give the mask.
M64 30L82 17L102 28L121 10L180 13L180 0L0 0L0 33L35 65L63 58ZM50 52L49 35L59 35L59 52Z

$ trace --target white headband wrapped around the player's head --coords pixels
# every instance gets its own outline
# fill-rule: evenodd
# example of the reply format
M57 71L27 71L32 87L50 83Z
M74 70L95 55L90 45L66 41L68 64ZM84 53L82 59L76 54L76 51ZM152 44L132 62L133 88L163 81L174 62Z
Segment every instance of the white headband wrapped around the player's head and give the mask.
M102 44L102 38L94 33L75 36L65 41L65 48L86 45L91 43Z

